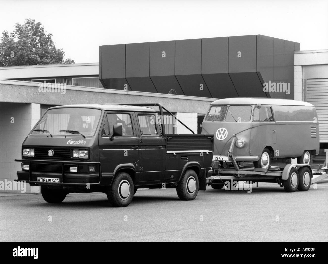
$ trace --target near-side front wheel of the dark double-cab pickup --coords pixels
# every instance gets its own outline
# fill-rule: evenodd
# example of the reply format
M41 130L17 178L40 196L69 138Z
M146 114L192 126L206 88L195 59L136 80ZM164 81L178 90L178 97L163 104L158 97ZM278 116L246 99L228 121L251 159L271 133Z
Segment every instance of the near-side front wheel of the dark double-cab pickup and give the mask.
M133 198L133 181L128 173L116 174L112 185L108 188L107 198L115 207L128 206Z

